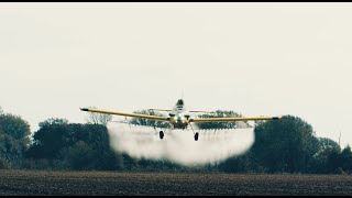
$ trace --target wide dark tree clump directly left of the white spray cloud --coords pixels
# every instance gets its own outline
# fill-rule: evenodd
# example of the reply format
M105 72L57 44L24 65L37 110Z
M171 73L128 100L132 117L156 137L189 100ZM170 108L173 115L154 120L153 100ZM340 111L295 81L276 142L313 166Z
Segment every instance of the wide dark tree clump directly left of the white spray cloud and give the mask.
M62 161L73 169L119 169L122 157L112 152L102 124L68 123L65 119L41 122L26 152L29 158Z

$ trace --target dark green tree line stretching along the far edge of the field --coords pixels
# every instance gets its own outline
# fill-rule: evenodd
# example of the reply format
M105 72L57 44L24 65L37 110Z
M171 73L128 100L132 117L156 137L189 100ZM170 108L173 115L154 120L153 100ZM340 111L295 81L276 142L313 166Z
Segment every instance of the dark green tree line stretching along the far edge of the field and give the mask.
M141 110L136 113L163 116ZM218 110L200 114L242 117L233 111ZM34 133L20 116L0 109L0 168L75 169L121 172L222 172L222 173L352 173L352 152L331 139L318 138L312 127L295 116L279 121L256 121L255 142L241 156L217 164L187 167L168 161L133 158L113 151L106 124L111 117L91 113L87 123L69 123L67 119L50 118ZM167 122L132 118L129 123L168 128ZM246 122L199 123L200 129L235 129Z

